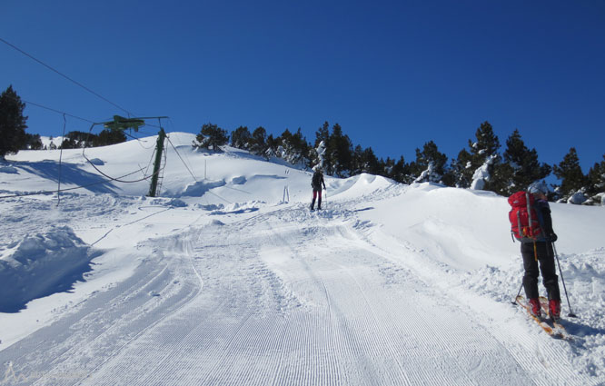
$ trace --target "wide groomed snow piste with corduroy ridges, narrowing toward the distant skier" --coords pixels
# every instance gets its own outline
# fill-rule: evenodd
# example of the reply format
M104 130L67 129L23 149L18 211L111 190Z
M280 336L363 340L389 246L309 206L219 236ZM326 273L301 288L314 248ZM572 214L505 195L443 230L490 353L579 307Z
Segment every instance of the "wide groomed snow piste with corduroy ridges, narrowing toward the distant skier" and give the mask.
M585 385L423 282L347 205L148 242L132 277L0 351L0 384ZM408 251L409 252L409 251Z

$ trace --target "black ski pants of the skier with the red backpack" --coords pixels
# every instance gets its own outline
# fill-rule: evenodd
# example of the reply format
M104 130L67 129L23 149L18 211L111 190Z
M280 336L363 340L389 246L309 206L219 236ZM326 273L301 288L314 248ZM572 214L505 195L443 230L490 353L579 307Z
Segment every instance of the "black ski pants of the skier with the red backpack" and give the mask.
M521 255L523 256L523 287L528 299L537 298L538 276L542 273L542 283L546 287L549 300L560 301L559 276L554 261L554 252L550 242L536 242L534 252L533 242L521 243ZM536 262L536 256L538 261ZM540 266L540 269L539 269Z

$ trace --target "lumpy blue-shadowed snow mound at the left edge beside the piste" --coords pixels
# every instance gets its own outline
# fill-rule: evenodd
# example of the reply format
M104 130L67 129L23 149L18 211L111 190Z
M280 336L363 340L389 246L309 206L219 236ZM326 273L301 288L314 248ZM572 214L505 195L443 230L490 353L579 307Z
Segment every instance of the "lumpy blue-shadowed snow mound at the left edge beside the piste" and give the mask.
M0 252L0 312L18 312L33 299L70 290L94 257L68 226L26 235Z

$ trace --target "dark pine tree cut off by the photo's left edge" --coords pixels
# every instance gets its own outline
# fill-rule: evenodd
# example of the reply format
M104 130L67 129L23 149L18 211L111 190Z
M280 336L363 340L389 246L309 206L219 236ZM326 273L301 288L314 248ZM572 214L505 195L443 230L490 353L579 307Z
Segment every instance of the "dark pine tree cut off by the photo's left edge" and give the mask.
M23 115L25 104L13 90L13 86L0 94L0 159L15 154L25 146L27 117Z

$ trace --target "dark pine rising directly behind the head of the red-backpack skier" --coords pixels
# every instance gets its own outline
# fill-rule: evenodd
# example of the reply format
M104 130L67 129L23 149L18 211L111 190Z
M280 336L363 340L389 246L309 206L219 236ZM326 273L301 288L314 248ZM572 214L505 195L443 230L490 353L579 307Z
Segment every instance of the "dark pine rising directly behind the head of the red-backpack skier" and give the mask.
M528 149L521 139L519 130L506 140L503 154L503 180L506 182L506 195L526 189L531 183L543 180L551 171L550 165L538 161L536 149Z

